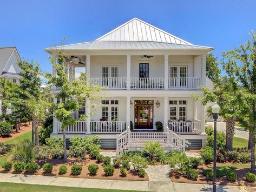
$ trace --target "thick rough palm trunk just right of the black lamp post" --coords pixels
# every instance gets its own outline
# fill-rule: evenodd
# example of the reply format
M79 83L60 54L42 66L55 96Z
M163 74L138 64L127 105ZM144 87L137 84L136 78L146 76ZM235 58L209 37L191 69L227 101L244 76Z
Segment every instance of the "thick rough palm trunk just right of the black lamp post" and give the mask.
M233 137L235 134L235 122L233 117L226 118L226 147L233 150Z

